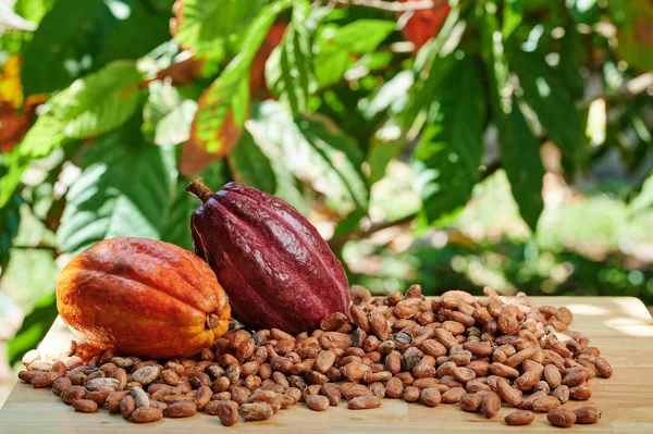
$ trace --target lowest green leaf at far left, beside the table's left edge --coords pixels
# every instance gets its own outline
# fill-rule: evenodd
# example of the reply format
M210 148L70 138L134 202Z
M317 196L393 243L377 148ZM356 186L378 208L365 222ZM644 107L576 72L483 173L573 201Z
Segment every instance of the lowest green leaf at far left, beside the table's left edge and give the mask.
M23 325L16 335L7 343L9 363L12 365L17 363L25 352L36 348L46 337L56 318L57 298L54 294L50 294L37 302L32 313L23 320Z

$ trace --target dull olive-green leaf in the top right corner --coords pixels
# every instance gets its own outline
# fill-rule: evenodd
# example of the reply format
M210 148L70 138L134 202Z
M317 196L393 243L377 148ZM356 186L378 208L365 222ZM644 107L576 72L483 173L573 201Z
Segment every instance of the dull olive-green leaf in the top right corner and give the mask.
M640 71L653 70L653 4L650 1L611 0L607 4L617 26L617 53Z

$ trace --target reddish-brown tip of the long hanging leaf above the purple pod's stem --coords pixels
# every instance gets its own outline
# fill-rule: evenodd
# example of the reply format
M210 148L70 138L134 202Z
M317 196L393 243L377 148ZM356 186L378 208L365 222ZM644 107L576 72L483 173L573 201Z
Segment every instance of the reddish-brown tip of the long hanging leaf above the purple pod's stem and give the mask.
M197 110L200 109L201 103L202 99L200 98ZM180 159L180 172L187 177L196 176L199 172L211 165L211 163L223 159L238 142L238 139L243 134L243 128L239 128L235 124L232 111L230 110L226 113L226 117L220 126L220 129L217 132L219 140L222 142L222 147L218 152L211 153L207 151L204 142L195 135L196 119L193 120L190 138L184 144L182 157Z

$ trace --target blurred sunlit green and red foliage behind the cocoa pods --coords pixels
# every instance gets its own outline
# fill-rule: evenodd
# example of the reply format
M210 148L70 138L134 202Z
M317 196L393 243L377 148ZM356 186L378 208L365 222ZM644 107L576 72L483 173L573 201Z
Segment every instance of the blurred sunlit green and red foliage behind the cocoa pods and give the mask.
M650 0L0 0L0 35L10 363L72 255L192 249L198 175L292 203L375 293L653 305Z

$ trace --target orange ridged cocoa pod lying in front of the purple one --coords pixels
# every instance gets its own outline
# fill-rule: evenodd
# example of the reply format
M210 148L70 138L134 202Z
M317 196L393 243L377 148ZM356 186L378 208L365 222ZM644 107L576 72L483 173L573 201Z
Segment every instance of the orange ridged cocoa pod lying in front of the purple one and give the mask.
M57 309L86 343L146 358L190 357L229 327L229 298L197 256L169 243L120 237L73 258Z

